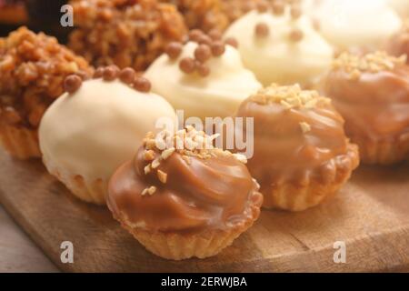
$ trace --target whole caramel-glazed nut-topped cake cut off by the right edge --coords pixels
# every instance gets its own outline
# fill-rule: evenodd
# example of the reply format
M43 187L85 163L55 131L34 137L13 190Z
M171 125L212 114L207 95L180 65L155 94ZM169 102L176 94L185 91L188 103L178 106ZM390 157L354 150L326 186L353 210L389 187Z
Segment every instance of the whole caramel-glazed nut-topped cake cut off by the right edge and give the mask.
M409 157L409 66L406 56L344 53L334 62L324 91L345 118L346 134L366 164Z

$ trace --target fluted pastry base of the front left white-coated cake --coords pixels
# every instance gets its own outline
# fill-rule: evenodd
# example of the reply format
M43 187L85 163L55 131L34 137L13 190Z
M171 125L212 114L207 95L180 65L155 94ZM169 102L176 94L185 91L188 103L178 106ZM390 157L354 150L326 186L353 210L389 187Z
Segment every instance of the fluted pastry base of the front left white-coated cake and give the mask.
M104 179L89 179L84 176L67 173L62 169L57 169L45 156L43 162L48 172L63 183L77 198L95 205L104 206L106 204L106 194L108 191L108 181Z

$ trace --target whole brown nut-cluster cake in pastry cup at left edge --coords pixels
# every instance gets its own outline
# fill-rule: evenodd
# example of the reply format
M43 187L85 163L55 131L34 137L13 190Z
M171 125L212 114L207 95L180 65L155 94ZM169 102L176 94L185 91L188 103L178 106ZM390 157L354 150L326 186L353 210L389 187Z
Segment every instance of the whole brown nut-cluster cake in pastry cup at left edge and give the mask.
M41 156L37 128L45 109L63 93L66 75L92 75L84 58L55 37L25 27L0 38L0 143L12 156Z

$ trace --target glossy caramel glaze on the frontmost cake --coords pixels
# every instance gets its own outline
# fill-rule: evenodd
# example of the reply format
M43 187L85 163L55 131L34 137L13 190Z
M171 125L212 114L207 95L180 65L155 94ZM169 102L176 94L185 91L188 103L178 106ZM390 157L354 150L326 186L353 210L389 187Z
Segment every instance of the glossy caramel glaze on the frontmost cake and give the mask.
M107 201L114 216L125 217L135 226L178 233L226 229L243 223L253 216L253 206L262 204L258 185L233 156L190 156L187 163L175 152L157 168L167 173L164 184L156 171L145 175L144 150L141 147L135 161L116 171ZM155 193L142 196L150 186L156 187Z

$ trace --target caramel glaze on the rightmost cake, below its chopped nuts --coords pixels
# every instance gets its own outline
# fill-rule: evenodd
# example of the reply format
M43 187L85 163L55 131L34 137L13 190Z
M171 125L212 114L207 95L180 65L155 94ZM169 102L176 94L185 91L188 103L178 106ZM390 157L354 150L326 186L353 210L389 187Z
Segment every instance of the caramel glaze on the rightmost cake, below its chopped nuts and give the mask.
M369 141L409 140L409 66L361 72L351 79L344 70L331 72L325 94L345 118L345 131Z

